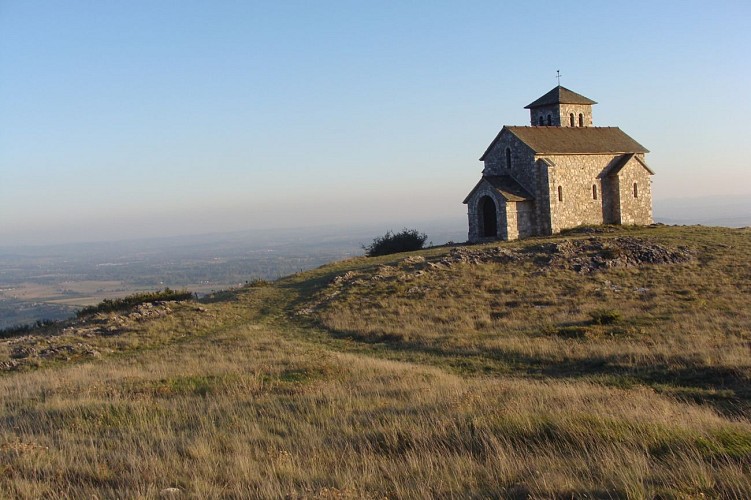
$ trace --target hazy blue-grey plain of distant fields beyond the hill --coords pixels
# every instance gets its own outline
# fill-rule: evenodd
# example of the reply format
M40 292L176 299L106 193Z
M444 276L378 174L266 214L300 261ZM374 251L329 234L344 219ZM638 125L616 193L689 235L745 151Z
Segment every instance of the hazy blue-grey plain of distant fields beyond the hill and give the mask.
M105 298L163 289L198 294L273 280L353 255L387 228L300 228L117 243L0 247L0 328L70 316ZM462 227L429 226L437 244Z

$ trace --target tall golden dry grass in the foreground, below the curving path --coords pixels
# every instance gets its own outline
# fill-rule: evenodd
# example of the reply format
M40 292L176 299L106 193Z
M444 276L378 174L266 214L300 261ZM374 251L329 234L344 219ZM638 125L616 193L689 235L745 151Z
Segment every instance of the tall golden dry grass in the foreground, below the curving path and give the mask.
M751 425L654 391L462 378L238 327L0 380L2 496L747 497Z

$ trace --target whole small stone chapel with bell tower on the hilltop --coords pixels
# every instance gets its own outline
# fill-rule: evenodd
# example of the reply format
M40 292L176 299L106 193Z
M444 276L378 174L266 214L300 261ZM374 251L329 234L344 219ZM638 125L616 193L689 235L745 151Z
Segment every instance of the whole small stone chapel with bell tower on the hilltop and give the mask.
M501 129L464 200L470 242L652 223L649 151L618 127L595 127L593 104L559 85L525 106L531 126Z

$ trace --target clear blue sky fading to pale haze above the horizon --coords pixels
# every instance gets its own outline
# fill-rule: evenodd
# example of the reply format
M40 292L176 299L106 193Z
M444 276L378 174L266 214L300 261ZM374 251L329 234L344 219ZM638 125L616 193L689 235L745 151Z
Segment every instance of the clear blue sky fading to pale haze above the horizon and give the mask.
M751 195L751 3L0 0L0 244L462 221L556 85Z

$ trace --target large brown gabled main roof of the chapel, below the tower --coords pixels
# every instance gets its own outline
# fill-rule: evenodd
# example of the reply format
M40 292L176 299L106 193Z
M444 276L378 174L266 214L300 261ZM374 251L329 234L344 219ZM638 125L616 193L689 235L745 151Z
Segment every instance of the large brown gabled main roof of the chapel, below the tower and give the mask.
M648 153L649 150L618 127L503 127L485 150L485 159L507 131L537 154Z

